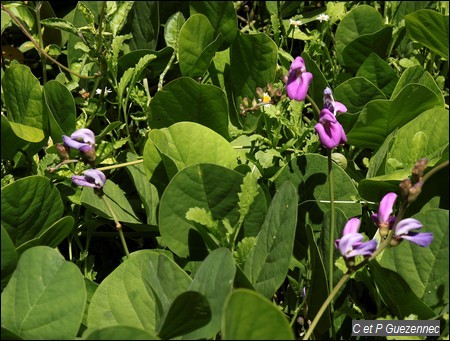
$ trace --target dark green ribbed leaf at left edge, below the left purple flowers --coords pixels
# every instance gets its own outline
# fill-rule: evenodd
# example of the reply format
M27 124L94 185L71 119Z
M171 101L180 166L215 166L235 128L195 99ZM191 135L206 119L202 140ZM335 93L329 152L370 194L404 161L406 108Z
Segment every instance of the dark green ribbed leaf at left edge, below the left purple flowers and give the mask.
M63 214L59 191L43 176L29 176L2 188L2 225L16 247L35 238Z

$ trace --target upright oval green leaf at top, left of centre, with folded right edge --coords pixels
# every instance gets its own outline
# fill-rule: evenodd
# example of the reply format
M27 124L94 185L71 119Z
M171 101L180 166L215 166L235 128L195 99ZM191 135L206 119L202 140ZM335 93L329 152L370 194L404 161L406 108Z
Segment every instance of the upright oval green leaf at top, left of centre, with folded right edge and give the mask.
M183 76L202 77L222 43L203 14L192 15L180 30L178 60Z

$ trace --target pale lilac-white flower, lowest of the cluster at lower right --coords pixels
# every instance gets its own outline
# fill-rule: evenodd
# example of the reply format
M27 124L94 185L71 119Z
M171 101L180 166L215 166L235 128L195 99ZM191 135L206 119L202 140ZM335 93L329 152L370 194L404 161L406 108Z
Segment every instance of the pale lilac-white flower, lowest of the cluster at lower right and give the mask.
M370 256L377 248L377 242L374 239L363 242L364 236L358 233L360 224L358 218L351 218L345 224L342 238L336 239L334 242L344 258L352 258L358 255Z

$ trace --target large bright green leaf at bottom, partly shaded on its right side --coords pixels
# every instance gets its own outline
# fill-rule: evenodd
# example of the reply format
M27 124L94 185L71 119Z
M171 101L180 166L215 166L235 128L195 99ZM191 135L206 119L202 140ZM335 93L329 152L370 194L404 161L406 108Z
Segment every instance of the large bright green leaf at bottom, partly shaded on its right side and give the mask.
M158 318L190 282L167 256L151 250L134 252L95 291L88 327L126 325L153 334Z

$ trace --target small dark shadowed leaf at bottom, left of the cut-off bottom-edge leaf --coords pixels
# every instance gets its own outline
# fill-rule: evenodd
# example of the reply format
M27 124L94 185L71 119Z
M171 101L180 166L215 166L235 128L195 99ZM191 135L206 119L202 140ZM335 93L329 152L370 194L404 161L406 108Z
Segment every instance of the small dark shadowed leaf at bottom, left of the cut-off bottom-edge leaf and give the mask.
M186 291L175 298L157 328L163 340L194 331L211 320L208 300L196 291Z

